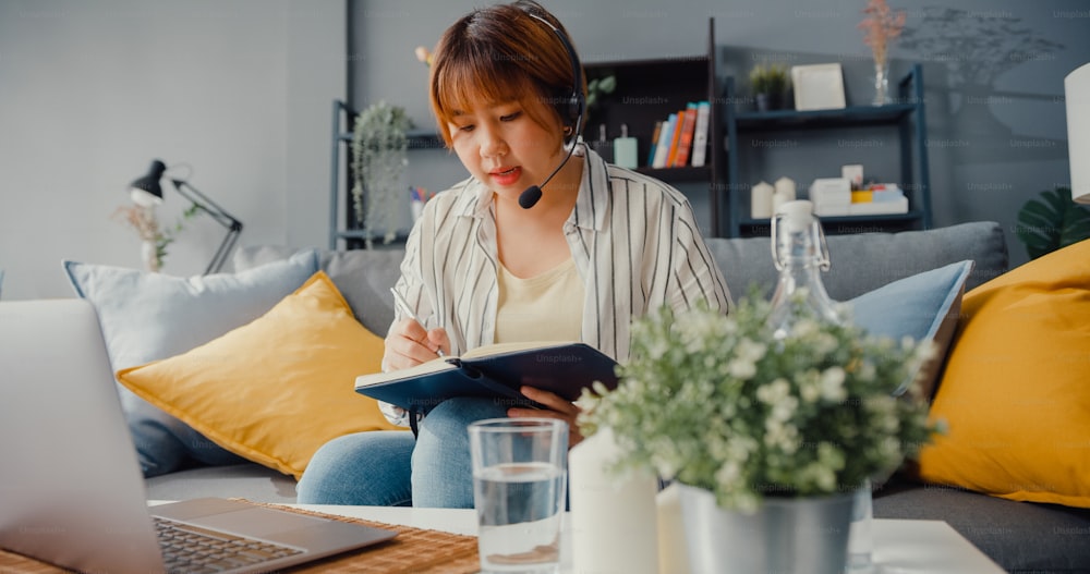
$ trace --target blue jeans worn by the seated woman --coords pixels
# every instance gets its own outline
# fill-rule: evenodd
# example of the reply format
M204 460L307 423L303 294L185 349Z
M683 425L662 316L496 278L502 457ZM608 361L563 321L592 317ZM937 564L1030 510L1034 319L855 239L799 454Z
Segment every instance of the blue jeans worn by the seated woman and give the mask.
M491 399L444 401L404 430L346 435L311 459L296 491L301 504L473 508L473 465L467 427L502 418L507 406Z

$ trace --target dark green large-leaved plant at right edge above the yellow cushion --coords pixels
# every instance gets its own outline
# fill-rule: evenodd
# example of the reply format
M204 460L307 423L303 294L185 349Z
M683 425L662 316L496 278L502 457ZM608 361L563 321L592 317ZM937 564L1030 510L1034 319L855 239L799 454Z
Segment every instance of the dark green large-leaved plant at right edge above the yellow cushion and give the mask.
M1070 187L1045 190L1022 205L1015 234L1037 259L1090 237L1090 209L1071 200Z

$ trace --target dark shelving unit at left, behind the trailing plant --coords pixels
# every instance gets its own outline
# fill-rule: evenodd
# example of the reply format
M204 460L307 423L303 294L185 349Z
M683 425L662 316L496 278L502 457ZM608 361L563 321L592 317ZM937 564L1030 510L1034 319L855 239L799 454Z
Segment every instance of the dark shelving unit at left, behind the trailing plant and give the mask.
M331 164L329 168L329 248L337 249L340 241L347 249L363 248L367 244L367 233L356 224L352 215L352 122L356 111L342 100L334 100ZM437 149L443 147L443 141L434 131L412 130L409 132L409 150ZM341 163L344 158L343 164ZM341 181L344 182L343 186ZM372 240L378 237L371 236ZM405 240L403 234L398 241Z

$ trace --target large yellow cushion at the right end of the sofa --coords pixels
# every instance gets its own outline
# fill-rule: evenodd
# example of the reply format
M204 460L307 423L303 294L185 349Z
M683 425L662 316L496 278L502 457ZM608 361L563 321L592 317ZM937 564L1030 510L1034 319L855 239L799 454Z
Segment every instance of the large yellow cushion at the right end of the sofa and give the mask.
M1090 508L1090 241L965 295L931 413L949 429L920 476Z

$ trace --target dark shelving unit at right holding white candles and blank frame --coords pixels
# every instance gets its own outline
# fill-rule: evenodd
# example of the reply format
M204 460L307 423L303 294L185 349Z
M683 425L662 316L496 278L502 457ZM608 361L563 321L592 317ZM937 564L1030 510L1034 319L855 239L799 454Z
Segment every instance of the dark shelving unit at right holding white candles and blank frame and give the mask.
M727 185L729 236L768 233L767 219L749 217L748 191L740 166L739 136L743 133L784 133L789 131L843 133L841 131L873 126L893 126L898 132L900 148L900 181L896 182L908 196L909 211L896 215L823 217L827 233L853 233L861 229L928 229L931 227L931 188L927 148L927 115L923 100L923 76L920 64L898 83L898 102L885 106L850 106L836 110L774 110L767 112L738 111L735 81L726 80ZM765 152L775 152L767 149ZM843 163L851 163L845 161ZM837 173L839 164L834 166ZM774 174L749 174L752 182ZM828 176L828 173L814 174ZM799 187L809 181L797 182ZM801 195L801 194L800 194ZM743 200L747 199L747 200Z

